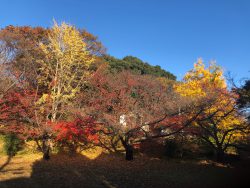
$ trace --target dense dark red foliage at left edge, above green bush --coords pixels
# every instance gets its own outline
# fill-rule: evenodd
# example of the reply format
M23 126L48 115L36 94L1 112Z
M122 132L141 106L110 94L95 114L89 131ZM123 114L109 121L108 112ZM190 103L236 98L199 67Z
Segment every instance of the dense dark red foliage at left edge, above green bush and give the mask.
M1 133L12 133L23 139L35 139L41 127L36 122L35 93L32 90L15 88L0 100Z

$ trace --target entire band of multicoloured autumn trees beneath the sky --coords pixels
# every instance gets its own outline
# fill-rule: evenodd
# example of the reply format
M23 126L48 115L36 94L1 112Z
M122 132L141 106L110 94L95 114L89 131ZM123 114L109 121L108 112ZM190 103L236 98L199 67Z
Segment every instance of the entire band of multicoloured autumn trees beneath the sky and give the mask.
M249 82L229 90L222 69L202 60L176 82L160 66L105 55L97 37L66 23L2 29L0 74L0 132L36 141L44 159L53 147L101 146L132 160L153 139L169 143L172 156L173 140L195 139L222 160L249 135L239 110Z

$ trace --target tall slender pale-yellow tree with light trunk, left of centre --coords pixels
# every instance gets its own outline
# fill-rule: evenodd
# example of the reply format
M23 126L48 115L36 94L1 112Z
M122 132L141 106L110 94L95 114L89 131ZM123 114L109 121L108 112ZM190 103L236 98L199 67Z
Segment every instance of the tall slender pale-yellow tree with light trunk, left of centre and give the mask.
M49 101L49 119L55 122L59 108L63 108L75 98L81 84L89 76L88 68L94 57L87 49L80 32L66 23L54 26L48 41L41 43L46 59L40 62L38 84L46 87L38 105Z

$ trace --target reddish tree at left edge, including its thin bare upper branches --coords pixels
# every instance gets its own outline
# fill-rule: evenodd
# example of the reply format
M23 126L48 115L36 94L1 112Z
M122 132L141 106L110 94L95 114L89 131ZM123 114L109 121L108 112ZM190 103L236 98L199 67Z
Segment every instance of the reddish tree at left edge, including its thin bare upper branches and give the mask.
M37 139L41 128L35 114L37 93L23 79L23 73L11 71L7 54L2 51L0 64L0 133Z

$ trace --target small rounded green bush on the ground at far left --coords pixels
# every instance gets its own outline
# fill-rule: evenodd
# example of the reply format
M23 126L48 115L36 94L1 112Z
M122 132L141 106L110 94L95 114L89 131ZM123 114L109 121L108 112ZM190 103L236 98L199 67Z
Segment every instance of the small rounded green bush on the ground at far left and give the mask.
M18 151L22 149L23 141L20 140L14 134L8 134L3 137L4 141L4 152L9 156L14 156L17 154Z

